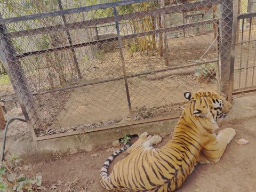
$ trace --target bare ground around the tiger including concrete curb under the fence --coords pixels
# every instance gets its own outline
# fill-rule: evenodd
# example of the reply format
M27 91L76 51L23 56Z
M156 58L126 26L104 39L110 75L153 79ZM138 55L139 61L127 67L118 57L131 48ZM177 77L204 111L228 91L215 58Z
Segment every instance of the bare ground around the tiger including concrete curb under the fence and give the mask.
M6 147L11 153L19 153L25 163L33 166L34 172L42 173L46 191L106 192L101 188L98 177L103 162L113 153L111 142L125 132L148 131L164 138L159 145L161 146L171 138L176 122L177 120L172 120L121 127L37 143L31 141L29 133L25 133L20 137L10 136ZM228 145L219 163L197 165L177 191L256 191L256 93L235 98L233 111L219 125L221 129L233 127L237 133L234 140ZM240 138L250 142L238 145L236 141ZM93 157L93 154L100 155ZM126 154L118 156L110 170L125 156ZM57 188L50 189L59 180L63 182Z

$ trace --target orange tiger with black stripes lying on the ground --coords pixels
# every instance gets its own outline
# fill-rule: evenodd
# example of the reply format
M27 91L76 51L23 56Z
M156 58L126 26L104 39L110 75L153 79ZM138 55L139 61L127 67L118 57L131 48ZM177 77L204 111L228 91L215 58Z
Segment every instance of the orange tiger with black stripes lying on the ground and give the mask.
M217 119L225 118L232 106L225 97L211 92L185 92L187 106L174 128L172 138L161 148L159 135L144 132L136 142L127 143L111 155L100 171L100 182L107 190L174 191L178 189L197 163L217 163L236 132L219 131ZM124 150L129 155L114 165L113 159Z

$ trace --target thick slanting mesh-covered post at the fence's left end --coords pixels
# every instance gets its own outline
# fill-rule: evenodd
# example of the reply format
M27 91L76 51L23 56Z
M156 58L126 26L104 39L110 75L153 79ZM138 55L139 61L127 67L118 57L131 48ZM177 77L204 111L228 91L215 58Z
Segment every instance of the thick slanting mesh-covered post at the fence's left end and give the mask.
M2 19L1 14L0 19ZM0 25L0 56L13 89L17 94L23 115L31 128L30 130L33 138L35 138L36 135L34 129L45 129L45 127L39 117L34 98L28 89L28 83L21 67L21 63L15 56L16 51L10 38L8 38L6 34L6 26L4 24Z

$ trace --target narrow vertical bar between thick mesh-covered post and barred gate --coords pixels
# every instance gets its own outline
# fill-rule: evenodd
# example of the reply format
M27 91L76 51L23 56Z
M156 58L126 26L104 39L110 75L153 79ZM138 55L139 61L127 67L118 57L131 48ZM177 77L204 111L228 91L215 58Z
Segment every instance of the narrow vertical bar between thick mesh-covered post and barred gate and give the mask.
M230 75L229 75L229 92L228 100L232 102L232 93L234 90L234 69L235 69L235 54L236 54L236 35L237 35L237 14L239 8L239 1L234 1L233 6L233 26L232 26L232 41L231 41L231 50L230 50ZM239 28L238 28L239 30Z

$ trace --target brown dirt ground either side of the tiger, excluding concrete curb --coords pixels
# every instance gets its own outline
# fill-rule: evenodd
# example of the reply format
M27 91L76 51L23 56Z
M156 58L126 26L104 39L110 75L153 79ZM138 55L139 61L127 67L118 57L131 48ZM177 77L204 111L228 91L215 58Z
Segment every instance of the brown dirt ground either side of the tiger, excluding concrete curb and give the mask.
M249 98L251 101L256 97ZM241 101L241 98L240 98ZM244 102L244 103L243 103ZM242 100L242 105L235 107L234 117L220 122L221 129L233 127L236 130L235 138L228 145L225 154L217 164L197 165L193 173L189 175L179 192L204 191L204 192L253 192L256 186L256 102L247 103ZM252 114L251 114L252 113ZM244 116L245 115L245 116ZM249 116L251 115L251 116ZM246 117L247 116L247 117ZM170 138L170 134L159 133L164 137L161 145ZM249 140L246 145L236 143L240 138ZM102 138L103 139L103 138ZM31 162L34 172L43 175L43 186L47 191L106 191L99 183L99 171L105 159L113 153L109 151L111 146L102 146L90 153L77 153L57 158L45 158L41 162ZM100 154L99 157L92 157ZM111 167L126 154L119 155ZM56 189L50 189L52 185L62 181Z

